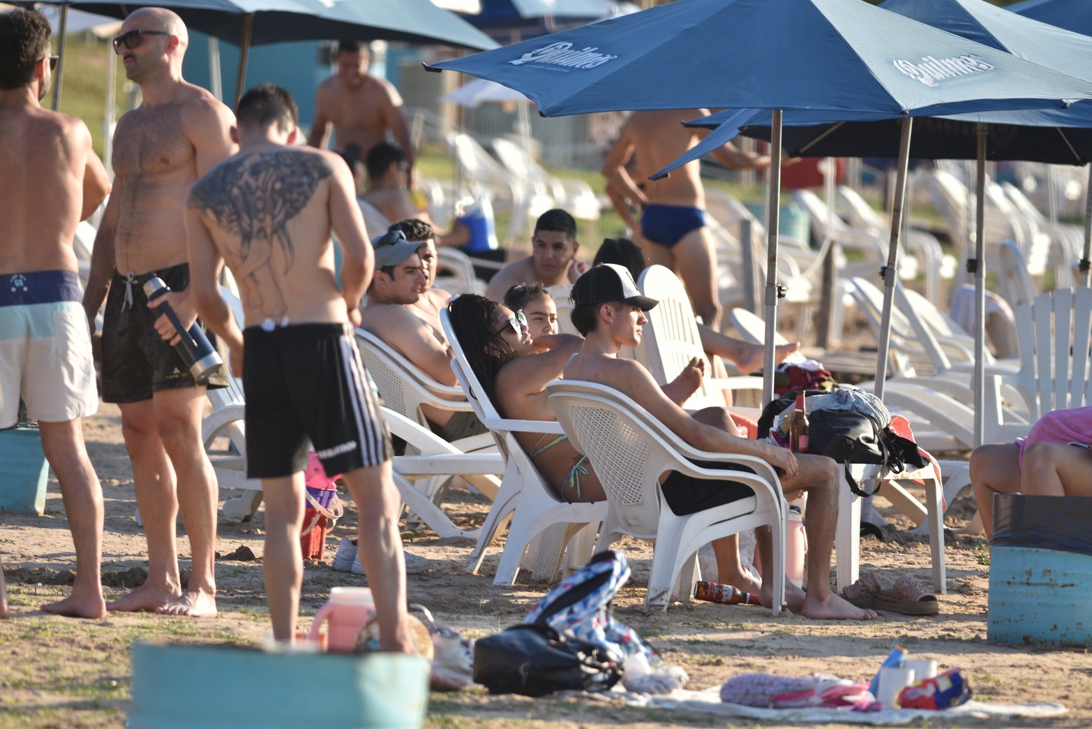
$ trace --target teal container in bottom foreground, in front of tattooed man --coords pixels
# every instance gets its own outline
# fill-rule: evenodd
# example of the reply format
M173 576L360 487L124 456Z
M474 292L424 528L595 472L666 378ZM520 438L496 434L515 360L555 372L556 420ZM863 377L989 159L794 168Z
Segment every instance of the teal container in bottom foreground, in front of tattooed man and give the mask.
M428 709L420 656L269 654L133 646L130 727L416 728Z

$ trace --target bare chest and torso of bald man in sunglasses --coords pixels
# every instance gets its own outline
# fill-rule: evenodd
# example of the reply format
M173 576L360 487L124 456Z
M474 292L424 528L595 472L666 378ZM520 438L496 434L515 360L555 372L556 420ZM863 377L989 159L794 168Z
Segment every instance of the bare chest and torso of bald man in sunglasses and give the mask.
M114 171L121 181L119 272L186 262L186 230L179 224L186 193L204 167L230 153L232 121L227 107L188 82L179 82L174 101L121 117L114 143Z

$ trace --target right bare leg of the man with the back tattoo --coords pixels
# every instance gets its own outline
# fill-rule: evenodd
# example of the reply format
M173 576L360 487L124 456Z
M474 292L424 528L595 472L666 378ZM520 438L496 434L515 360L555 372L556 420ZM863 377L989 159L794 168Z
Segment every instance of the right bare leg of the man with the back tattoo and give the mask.
M357 553L376 601L379 646L417 652L406 613L406 568L399 533L402 501L394 487L391 462L349 471L345 481L356 502Z

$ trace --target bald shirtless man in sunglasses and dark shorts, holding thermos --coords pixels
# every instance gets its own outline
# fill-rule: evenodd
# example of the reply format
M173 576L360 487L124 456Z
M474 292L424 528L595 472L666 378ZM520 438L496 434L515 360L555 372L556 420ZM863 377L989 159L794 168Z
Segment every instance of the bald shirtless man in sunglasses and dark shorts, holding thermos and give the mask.
M182 203L198 177L232 154L235 119L212 94L182 79L188 38L178 15L142 8L114 39L144 101L121 117L114 136L117 177L95 236L83 304L93 322L107 299L102 395L121 408L147 537L147 579L107 608L197 618L216 614L216 475L201 444L201 419L206 384L226 380L217 368L207 383L195 383L168 343L177 338L175 328L152 307L167 301L185 326L197 319L187 291ZM140 278L151 272L173 292L150 305ZM185 592L175 544L179 512L192 560Z

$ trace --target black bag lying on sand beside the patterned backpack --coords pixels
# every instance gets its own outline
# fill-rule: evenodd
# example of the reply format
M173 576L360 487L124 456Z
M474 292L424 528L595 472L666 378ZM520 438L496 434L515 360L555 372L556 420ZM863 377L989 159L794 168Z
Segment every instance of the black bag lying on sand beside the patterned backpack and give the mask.
M513 625L474 643L474 682L490 694L606 691L620 678L609 650L548 625Z

